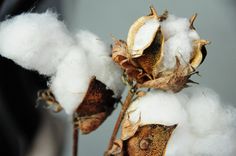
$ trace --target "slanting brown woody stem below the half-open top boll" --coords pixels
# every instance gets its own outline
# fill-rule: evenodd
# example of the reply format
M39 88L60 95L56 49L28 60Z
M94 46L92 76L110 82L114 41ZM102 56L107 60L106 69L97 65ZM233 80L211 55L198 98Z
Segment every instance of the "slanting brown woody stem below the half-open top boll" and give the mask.
M122 105L122 109L120 111L120 114L118 116L118 119L116 120L116 124L115 124L115 127L113 129L113 133L111 135L111 138L110 138L110 142L109 142L109 145L108 145L108 149L106 151L106 153L112 148L113 146L113 143L116 139L116 135L118 133L118 130L119 130L119 127L120 127L120 124L124 118L124 115L125 115L125 112L127 111L127 109L129 108L129 105L130 103L132 102L132 99L133 99L133 96L135 95L135 92L136 92L136 88L133 88L131 89L129 92L128 92L128 95L126 96L126 99L124 101L124 104ZM106 154L105 154L106 155Z

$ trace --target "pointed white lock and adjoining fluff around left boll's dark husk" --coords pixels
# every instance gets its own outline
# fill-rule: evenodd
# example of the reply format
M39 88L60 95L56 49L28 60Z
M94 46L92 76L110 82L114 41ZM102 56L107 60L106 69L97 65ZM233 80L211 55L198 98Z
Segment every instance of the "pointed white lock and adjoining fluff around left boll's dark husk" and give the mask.
M108 47L94 34L81 30L51 80L51 89L67 114L72 114L84 99L93 76L119 97L124 89L121 71L113 63Z

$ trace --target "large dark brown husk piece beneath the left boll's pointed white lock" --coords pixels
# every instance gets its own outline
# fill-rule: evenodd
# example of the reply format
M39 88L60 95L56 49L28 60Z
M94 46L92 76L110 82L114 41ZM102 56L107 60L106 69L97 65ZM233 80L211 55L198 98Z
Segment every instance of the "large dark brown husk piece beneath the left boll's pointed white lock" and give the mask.
M114 110L117 99L113 91L93 77L87 93L75 112L75 124L82 133L87 134L97 129Z

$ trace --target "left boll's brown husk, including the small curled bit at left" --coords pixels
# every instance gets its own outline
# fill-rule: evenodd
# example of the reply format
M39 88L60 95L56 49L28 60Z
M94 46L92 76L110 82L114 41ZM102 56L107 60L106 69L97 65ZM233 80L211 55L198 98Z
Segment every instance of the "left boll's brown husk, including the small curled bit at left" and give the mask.
M74 124L83 134L96 130L115 109L118 99L114 92L104 83L92 77L86 95L74 113ZM53 107L54 112L62 110L53 93L47 89L38 92L37 103L47 108Z

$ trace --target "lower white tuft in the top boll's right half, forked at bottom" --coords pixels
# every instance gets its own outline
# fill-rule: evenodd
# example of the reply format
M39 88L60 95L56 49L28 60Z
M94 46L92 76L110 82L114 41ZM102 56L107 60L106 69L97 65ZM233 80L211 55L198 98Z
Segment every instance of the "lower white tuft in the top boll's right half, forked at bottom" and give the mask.
M180 59L182 65L189 62L193 51L192 41L186 32L178 33L169 38L164 45L163 65L167 69L175 67L176 56Z

